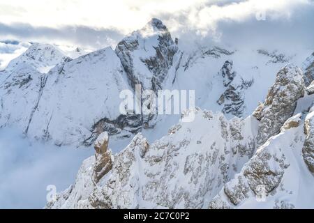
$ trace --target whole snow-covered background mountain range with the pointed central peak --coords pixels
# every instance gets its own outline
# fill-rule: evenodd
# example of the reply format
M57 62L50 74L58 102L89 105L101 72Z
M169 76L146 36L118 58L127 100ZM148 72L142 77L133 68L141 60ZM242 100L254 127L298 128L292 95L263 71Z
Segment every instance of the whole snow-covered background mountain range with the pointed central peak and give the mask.
M135 84L155 93L191 89L198 107L245 117L264 99L276 71L294 59L264 49L203 46L185 52L179 41L153 19L116 49L77 57L78 52L76 59L34 43L0 72L0 126L57 145L91 144L103 131L115 135L112 142L127 139L127 144L137 132L148 132L154 141L179 116L121 115L121 90L134 91Z

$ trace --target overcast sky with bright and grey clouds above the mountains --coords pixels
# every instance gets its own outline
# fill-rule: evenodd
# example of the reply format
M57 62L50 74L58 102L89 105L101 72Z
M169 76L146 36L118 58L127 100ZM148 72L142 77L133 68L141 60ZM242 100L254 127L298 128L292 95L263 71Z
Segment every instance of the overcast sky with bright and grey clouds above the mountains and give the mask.
M0 39L99 49L152 17L186 45L249 40L314 49L312 0L0 0Z

